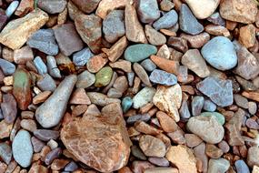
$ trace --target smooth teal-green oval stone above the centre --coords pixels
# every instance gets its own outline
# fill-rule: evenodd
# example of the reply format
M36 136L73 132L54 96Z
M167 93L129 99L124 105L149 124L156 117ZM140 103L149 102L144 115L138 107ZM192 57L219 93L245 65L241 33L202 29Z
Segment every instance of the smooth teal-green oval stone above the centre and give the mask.
M137 44L128 46L125 50L125 60L132 63L139 62L156 54L157 48L148 44Z

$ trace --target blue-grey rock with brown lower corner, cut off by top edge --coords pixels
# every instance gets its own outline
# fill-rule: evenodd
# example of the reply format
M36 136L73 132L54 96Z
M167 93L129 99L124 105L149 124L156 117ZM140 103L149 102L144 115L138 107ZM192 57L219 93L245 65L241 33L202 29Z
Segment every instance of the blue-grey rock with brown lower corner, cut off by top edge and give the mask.
M157 1L140 0L137 6L137 14L140 21L144 24L154 22L160 16Z

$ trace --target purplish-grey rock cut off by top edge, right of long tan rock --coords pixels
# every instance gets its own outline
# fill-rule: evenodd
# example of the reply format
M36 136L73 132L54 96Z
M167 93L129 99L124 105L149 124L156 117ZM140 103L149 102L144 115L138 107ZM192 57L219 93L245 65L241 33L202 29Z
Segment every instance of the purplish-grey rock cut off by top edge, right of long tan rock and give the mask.
M65 0L38 0L39 8L48 14L59 14L65 10L67 2Z

